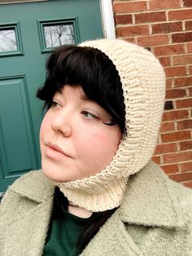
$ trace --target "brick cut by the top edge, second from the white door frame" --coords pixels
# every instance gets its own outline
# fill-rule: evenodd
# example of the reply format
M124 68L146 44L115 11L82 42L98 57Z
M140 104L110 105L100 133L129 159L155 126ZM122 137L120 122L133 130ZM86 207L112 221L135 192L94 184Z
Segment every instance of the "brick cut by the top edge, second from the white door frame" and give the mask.
M172 9L181 7L180 0L153 0L149 1L150 3L150 10L162 10L162 9Z

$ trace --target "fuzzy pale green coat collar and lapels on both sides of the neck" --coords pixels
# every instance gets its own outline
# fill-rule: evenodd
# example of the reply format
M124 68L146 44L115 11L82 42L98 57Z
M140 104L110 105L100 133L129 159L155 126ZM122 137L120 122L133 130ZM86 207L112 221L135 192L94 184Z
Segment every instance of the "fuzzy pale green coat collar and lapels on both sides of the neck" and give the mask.
M169 232L185 230L183 213L177 196L172 192L174 186L171 187L167 177L153 162L147 164L129 179L120 208L81 255L105 255L110 251L111 255L118 256L142 255L142 249L129 235L127 227L132 234L135 232L132 227L141 226L160 227ZM42 254L54 191L55 186L41 171L26 174L11 186L0 207L2 256ZM151 236L151 239L155 237Z

